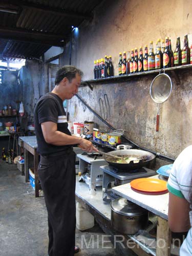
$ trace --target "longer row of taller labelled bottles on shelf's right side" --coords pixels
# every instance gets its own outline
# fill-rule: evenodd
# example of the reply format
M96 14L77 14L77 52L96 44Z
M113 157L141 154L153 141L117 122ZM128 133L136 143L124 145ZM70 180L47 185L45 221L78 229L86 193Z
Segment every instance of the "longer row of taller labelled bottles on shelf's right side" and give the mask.
M131 56L130 56L131 55ZM184 36L184 47L181 50L180 37L177 37L176 49L172 51L171 40L166 37L164 40L157 40L156 52L154 53L153 41L150 42L150 49L148 52L148 46L144 46L144 56L143 48L138 50L135 48L127 52L119 53L119 63L118 63L118 74L132 74L143 71L150 71L155 69L165 69L170 67L177 67L181 65L192 64L192 45L188 47L188 37Z

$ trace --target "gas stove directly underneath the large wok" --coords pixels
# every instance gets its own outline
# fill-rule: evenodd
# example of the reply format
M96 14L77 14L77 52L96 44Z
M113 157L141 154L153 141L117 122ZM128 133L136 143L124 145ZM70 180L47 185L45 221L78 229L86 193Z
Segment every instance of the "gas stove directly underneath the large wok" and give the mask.
M113 186L119 186L126 183L130 183L132 180L138 178L146 178L156 175L156 171L142 167L135 170L120 170L111 165L100 166L103 172L103 201L109 202L118 198L112 191Z

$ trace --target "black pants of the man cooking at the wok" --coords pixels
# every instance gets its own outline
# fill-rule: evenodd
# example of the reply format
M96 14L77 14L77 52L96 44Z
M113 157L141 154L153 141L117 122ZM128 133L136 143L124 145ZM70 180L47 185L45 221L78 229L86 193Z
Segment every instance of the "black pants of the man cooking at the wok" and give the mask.
M75 153L41 156L38 174L48 210L49 256L74 256Z

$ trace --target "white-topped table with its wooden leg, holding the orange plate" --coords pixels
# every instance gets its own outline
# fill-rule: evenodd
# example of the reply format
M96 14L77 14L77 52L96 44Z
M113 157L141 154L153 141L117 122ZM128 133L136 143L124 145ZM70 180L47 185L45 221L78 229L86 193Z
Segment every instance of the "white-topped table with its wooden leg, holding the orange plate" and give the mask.
M150 178L161 178L156 175ZM158 216L156 255L169 256L171 232L168 227L168 192L163 195L146 195L134 191L130 183L112 188L115 194L153 212Z

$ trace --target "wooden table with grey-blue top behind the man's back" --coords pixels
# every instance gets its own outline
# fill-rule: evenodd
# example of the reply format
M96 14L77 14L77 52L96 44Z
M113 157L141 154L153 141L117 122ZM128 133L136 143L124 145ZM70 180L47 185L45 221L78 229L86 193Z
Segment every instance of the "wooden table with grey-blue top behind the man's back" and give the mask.
M29 168L34 168L35 175L35 197L39 197L39 180L38 180L38 153L36 136L19 137L23 141L24 158L25 158L25 181L29 182ZM30 154L29 154L30 153Z

